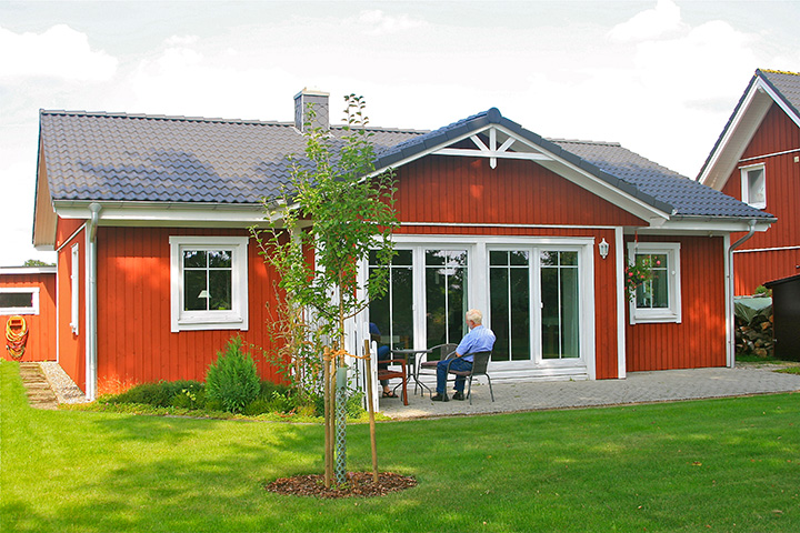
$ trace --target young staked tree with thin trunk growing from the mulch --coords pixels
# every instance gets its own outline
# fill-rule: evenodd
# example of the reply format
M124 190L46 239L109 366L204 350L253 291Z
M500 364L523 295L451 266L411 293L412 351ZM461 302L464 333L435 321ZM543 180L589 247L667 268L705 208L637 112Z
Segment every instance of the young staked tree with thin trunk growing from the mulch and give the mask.
M294 329L284 340L300 356L309 354L301 348L308 345L309 338L316 358L332 354L330 363L338 369L340 385L346 371L344 323L372 299L383 295L388 283L388 269L369 269L366 291L360 291L359 264L372 251L377 266L388 266L394 253L391 234L399 225L394 177L391 172L374 174L364 100L354 94L344 100L344 135L336 139L328 130L307 130L306 158L292 160L289 187L278 198L266 200L268 220L273 222L266 239L257 237L266 261L281 276L279 288L284 304L280 308L286 313L282 323ZM309 108L307 117L310 125L313 108ZM326 380L327 391L332 389L329 384ZM336 403L332 394L326 394L327 484L333 456L332 433L337 430L332 412ZM339 424L343 431L343 420ZM342 455L337 463L339 482L344 479Z

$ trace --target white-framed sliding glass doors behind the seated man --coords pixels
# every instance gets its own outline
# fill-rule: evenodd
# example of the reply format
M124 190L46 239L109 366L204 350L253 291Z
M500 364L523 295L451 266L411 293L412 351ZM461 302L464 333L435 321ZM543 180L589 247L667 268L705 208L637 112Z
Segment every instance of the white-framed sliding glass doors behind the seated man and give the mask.
M591 240L451 240L408 235L398 247L389 291L369 306L384 344L458 343L472 306L497 335L493 363L514 371L586 371L593 351Z

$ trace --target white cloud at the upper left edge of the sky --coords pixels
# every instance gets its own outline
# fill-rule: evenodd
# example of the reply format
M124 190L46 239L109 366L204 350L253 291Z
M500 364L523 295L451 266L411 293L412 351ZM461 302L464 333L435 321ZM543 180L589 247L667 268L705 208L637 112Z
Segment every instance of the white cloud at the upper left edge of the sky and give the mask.
M117 71L117 59L94 51L86 33L58 24L43 33L14 33L0 28L0 79L27 77L70 81L104 81Z

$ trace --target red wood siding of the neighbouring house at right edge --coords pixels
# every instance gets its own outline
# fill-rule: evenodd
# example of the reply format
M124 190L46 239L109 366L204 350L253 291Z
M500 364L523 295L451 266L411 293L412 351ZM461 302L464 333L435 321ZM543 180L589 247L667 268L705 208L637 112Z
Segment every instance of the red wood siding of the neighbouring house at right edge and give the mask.
M787 150L800 149L800 128L777 104L768 111L741 159L752 159L738 167L764 163L767 180L766 211L778 217L778 221L762 233L756 233L741 249L782 248L800 245L800 162L794 162L800 152L769 155ZM722 192L741 200L741 173L739 168L731 172ZM743 233L731 235L736 242ZM800 273L796 265L798 251L764 251L734 254L736 294L751 294L766 281Z

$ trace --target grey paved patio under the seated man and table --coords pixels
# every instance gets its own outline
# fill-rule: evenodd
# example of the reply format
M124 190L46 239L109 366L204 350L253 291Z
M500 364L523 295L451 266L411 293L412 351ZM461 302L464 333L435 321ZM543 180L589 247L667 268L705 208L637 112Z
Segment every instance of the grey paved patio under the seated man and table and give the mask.
M380 409L392 419L414 419L800 392L800 375L774 370L774 365L748 365L631 372L624 380L494 383L494 402L486 379L479 378L480 384L472 383L472 405L431 402L427 393L413 395L410 386L408 406L401 399L382 399Z

